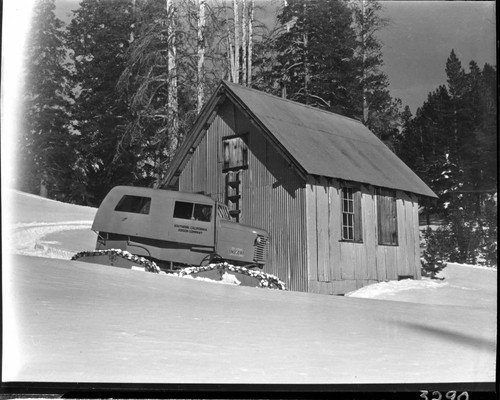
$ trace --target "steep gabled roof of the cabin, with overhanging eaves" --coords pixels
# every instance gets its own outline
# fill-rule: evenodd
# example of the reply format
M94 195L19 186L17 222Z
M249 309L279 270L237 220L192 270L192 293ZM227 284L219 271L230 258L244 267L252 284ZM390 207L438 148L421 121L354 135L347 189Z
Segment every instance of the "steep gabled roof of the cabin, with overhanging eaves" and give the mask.
M200 113L167 172L167 183L188 161L221 96L244 111L306 174L437 197L361 122L228 82L220 84Z

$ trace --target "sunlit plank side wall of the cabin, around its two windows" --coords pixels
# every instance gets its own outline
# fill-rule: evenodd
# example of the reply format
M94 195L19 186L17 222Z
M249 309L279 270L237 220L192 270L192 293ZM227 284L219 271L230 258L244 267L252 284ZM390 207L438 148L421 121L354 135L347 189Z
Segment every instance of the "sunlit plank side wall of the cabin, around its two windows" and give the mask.
M341 241L340 184L310 177L306 186L307 262L310 291L341 294L398 276L420 278L418 203L397 192L398 246L380 246L375 188L361 186L363 243Z

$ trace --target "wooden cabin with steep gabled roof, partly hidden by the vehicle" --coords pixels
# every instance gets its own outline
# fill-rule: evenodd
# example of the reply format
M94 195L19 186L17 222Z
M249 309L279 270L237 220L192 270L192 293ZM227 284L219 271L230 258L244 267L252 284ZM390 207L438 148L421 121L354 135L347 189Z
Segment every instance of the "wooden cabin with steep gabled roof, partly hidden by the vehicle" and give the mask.
M419 279L418 197L436 197L359 121L227 82L164 187L225 202L269 232L265 272L325 294Z

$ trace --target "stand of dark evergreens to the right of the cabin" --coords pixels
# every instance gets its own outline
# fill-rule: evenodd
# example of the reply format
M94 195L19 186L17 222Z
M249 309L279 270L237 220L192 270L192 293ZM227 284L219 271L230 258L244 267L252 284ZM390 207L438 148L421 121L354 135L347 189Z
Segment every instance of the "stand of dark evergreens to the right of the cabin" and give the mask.
M424 203L444 222L426 234L432 254L424 267L437 259L495 265L496 71L471 61L467 72L452 51L446 74L447 86L430 93L414 118L404 114L397 141L401 158L439 196Z

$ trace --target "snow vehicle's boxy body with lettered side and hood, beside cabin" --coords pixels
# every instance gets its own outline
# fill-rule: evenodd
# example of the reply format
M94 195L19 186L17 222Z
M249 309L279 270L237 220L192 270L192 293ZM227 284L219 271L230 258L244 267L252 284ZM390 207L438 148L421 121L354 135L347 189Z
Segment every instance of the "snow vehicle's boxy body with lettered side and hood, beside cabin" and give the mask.
M100 253L122 250L164 271L214 261L262 268L269 241L264 230L230 221L227 206L210 197L128 186L108 193L92 230ZM79 261L110 264L96 253Z

